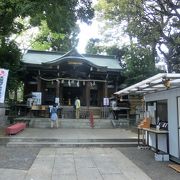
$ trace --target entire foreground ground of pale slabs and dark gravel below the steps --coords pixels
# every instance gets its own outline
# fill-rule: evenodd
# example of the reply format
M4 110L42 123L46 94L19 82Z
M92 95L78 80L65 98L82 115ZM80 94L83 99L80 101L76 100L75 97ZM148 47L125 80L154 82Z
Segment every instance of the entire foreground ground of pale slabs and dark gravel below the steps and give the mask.
M109 179L179 180L154 153L136 147L8 148L0 146L0 180Z

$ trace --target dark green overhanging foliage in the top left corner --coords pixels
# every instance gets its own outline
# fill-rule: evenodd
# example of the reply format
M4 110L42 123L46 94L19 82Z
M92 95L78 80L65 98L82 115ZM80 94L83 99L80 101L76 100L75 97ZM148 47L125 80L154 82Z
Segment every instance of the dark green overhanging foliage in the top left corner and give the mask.
M46 20L53 32L71 32L77 20L90 22L94 15L91 4L91 0L0 0L0 35L22 30L17 17L30 17L33 26Z

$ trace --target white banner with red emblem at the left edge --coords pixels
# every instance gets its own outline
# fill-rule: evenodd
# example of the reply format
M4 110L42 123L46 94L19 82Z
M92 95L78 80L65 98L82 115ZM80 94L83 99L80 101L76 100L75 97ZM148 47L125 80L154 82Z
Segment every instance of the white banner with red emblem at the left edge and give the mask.
M9 70L0 69L0 103L4 103Z

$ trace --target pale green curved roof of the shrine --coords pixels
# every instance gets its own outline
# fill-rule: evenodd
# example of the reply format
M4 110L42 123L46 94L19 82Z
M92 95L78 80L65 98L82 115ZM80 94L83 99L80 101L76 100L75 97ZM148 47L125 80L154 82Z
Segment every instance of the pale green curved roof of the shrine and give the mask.
M107 67L108 69L120 70L119 61L115 56L104 55L87 55L79 54L76 50L69 51L66 54L50 51L35 51L29 50L23 55L22 62L25 64L41 65L41 64L53 64L60 63L61 61L77 59L88 62L98 67Z

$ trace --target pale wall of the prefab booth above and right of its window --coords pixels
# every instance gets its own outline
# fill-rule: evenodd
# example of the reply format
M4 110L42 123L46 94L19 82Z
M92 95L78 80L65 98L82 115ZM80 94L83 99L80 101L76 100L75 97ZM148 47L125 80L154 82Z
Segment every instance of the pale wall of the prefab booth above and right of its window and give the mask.
M170 155L180 158L177 97L180 96L180 88L169 89L145 95L145 101L157 101L167 99L168 102L168 130Z

